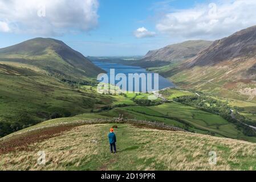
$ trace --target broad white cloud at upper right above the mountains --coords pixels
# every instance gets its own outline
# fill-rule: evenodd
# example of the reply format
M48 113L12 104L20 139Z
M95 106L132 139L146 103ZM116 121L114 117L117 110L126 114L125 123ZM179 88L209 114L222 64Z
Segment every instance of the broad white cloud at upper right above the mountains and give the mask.
M217 39L256 25L255 0L230 0L165 14L160 32L181 38Z

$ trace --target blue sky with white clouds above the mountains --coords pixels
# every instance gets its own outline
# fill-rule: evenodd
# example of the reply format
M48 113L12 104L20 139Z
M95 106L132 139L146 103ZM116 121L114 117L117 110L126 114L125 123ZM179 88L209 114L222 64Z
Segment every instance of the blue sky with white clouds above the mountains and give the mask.
M142 56L256 25L255 0L0 0L0 48L36 37L85 56Z

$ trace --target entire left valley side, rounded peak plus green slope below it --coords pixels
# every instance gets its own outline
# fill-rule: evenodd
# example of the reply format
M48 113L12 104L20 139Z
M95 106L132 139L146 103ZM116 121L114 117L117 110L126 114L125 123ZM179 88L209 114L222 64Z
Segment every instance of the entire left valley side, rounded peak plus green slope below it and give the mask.
M0 138L46 119L109 105L111 97L90 89L103 72L55 39L0 49Z

